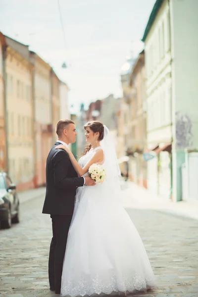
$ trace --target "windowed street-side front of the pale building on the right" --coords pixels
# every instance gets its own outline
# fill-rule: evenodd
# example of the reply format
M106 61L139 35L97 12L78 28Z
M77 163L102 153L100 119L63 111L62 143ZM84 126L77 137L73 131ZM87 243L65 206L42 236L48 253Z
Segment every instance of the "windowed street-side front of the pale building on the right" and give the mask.
M147 141L148 149L164 148L166 145L167 148L157 151L156 157L148 161L148 189L156 195L169 199L172 197L170 10L167 0L161 3L158 1L158 5L160 5L158 13L148 33L146 29L147 37L144 38L147 77ZM152 13L150 21L151 17Z

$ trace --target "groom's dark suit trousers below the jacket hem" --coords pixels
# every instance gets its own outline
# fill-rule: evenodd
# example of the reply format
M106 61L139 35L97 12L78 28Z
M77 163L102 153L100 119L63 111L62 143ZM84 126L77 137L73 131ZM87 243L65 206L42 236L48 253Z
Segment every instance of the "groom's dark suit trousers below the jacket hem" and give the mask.
M49 286L60 292L62 266L66 250L71 215L51 215L52 239L49 249Z

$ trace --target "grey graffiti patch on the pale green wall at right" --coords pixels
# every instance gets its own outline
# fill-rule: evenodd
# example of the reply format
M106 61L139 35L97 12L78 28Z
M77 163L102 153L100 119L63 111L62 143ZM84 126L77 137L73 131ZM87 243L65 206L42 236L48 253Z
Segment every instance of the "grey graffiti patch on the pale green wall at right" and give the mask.
M193 146L192 121L188 114L177 111L176 118L176 146L188 148Z

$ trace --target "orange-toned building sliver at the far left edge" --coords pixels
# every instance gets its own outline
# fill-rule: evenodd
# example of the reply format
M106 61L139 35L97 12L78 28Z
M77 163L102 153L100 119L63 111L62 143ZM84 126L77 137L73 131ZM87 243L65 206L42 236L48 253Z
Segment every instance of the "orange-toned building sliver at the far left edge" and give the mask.
M7 169L6 162L6 137L5 137L5 92L4 92L4 77L5 77L5 39L0 33L0 170Z

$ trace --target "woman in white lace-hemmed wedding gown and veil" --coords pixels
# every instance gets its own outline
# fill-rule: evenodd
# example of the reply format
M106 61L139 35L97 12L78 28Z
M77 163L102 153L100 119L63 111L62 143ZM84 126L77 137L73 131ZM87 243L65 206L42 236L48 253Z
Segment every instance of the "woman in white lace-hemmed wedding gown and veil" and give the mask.
M147 252L121 205L120 170L109 130L99 121L84 126L90 143L76 161L63 148L79 176L93 163L106 171L103 183L77 189L65 251L61 296L127 294L155 287Z

